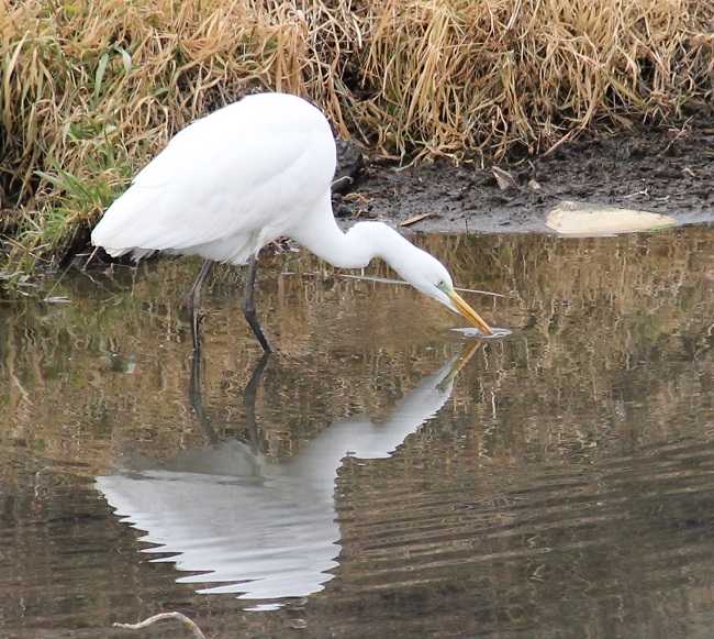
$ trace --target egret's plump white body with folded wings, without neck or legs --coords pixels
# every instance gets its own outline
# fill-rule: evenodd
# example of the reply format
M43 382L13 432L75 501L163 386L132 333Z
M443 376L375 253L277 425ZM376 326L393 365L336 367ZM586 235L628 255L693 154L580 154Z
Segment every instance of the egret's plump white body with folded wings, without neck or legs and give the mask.
M243 263L312 212L334 169L334 137L315 107L248 96L175 135L107 210L92 243L113 255Z

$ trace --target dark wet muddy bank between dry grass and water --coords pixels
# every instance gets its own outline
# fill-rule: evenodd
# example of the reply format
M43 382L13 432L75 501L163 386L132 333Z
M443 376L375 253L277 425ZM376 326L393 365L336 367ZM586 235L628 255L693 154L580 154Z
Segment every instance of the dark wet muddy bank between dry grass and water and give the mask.
M576 200L668 213L682 224L714 221L714 122L589 136L498 168L506 172L500 180L479 161L370 164L335 197L335 214L403 224L431 213L410 224L429 232L550 232L547 211Z

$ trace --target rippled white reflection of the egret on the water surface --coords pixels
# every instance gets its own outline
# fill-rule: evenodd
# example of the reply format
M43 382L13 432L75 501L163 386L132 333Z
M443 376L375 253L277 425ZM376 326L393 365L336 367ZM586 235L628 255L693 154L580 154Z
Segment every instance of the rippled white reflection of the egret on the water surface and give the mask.
M264 458L255 441L216 440L203 417L199 354L191 397L211 444L97 477L97 487L122 521L146 531L142 540L156 546L144 552L161 554L154 561L194 573L179 582L210 584L198 592L264 601L310 595L337 566L334 487L342 461L389 456L442 408L472 352L424 377L384 422L365 415L337 421L281 462ZM249 427L265 364L245 392Z

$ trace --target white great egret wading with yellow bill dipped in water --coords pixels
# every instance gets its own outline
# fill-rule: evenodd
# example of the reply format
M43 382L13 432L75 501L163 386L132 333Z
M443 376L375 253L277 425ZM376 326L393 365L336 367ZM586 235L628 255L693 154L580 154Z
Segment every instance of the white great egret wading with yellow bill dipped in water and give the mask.
M319 109L287 93L247 96L177 133L107 210L91 241L135 260L154 251L203 257L189 296L194 324L212 261L247 264L243 312L266 352L254 300L257 255L281 235L343 268L381 257L492 334L438 260L381 222L359 222L346 233L337 227L330 197L335 164L335 139Z

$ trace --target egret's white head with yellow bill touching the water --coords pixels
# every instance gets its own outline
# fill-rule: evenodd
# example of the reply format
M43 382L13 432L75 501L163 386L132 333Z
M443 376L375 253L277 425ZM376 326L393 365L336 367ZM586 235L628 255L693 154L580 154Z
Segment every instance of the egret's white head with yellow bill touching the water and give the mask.
M454 289L454 282L446 267L436 257L412 245L413 251L393 264L398 273L414 288L428 297L440 301L449 310L465 317L483 334L491 335L493 331L467 301Z

